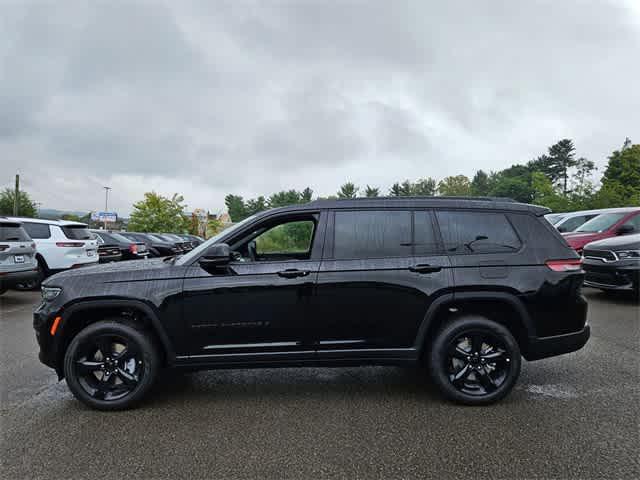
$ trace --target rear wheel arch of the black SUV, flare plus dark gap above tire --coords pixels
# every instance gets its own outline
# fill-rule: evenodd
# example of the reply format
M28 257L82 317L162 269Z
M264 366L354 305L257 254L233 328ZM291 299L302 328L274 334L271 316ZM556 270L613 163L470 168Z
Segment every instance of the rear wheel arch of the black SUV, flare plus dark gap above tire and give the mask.
M435 299L425 314L415 342L420 357L427 352L430 340L444 324L465 314L482 315L504 325L523 353L528 350L529 338L536 335L529 313L513 294L498 291L449 293Z

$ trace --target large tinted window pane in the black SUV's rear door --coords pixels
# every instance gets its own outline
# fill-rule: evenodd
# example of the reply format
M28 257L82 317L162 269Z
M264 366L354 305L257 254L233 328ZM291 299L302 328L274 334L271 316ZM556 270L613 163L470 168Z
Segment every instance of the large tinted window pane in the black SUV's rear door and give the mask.
M411 256L411 212L335 212L333 258Z

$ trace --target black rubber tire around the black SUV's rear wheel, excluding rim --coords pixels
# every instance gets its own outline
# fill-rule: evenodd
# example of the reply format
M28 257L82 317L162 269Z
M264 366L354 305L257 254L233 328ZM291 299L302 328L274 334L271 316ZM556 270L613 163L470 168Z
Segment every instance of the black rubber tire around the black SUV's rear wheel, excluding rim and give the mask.
M450 381L445 361L447 348L452 340L465 331L487 331L504 343L510 358L510 370L504 383L488 395L474 396L458 390ZM429 372L440 391L450 400L465 405L487 405L504 398L513 388L520 375L521 355L518 343L503 325L484 317L465 316L448 322L436 335L429 355Z

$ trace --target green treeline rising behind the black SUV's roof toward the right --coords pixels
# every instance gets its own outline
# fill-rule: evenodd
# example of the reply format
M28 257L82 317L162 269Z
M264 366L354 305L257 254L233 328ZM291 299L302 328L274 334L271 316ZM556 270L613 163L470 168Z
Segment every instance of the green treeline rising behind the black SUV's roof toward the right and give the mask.
M525 163L497 172L476 171L473 178L465 175L431 177L394 183L386 195L403 196L493 196L508 197L519 202L535 203L556 212L640 205L640 144L628 138L619 150L609 156L600 181L593 180L593 161L576 155L573 141L563 139L547 152ZM379 197L379 187L359 187L344 183L334 196L324 198ZM312 200L313 190L287 190L268 197L244 200L229 194L225 204L233 222L268 208L282 207ZM321 198L321 197L319 197Z

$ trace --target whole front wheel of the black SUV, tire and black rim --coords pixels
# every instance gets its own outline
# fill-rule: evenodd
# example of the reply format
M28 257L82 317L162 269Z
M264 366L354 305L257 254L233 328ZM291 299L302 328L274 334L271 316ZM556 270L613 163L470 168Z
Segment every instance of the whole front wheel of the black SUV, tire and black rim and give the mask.
M74 337L63 368L69 390L82 403L96 410L125 410L155 382L160 356L144 331L104 320Z

